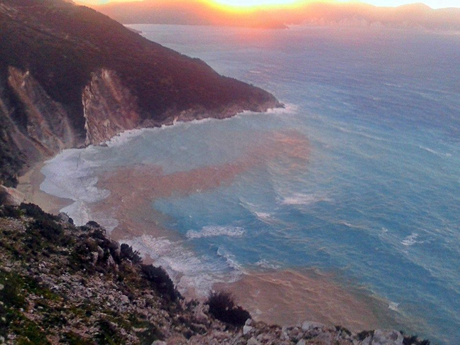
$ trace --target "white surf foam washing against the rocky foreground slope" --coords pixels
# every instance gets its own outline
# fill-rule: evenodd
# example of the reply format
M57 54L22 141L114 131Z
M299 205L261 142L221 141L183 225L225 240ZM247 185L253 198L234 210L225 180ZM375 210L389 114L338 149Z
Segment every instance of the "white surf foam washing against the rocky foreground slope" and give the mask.
M187 249L180 241L149 235L126 240L145 256L153 259L154 265L162 266L175 281L177 289L186 293L190 288L199 296L206 296L214 283L228 283L239 279L241 271L231 260L219 261L216 258L199 256ZM221 253L218 253L222 256Z

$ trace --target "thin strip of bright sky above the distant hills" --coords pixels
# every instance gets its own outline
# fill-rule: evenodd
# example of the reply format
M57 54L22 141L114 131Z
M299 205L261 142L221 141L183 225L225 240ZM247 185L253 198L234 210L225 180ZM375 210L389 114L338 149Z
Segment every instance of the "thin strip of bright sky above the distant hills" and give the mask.
M136 0L76 0L79 4L108 4L114 1L126 2ZM304 2L296 0L214 0L209 1L217 4L224 4L230 6L263 6L263 5L279 5L279 4L292 4L295 2ZM351 2L348 0L339 0L338 2ZM356 1L353 1L356 2ZM413 4L415 2L422 2L432 9L441 9L444 7L460 7L460 0L367 0L360 1L366 4L373 4L376 6L400 6L404 4Z

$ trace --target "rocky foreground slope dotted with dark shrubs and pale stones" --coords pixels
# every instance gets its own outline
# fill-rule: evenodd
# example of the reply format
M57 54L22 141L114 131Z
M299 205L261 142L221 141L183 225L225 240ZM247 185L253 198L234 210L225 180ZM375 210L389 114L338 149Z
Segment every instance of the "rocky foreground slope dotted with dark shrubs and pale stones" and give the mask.
M213 310L216 308L214 307ZM217 320L98 224L0 206L0 344L428 345L393 330Z

